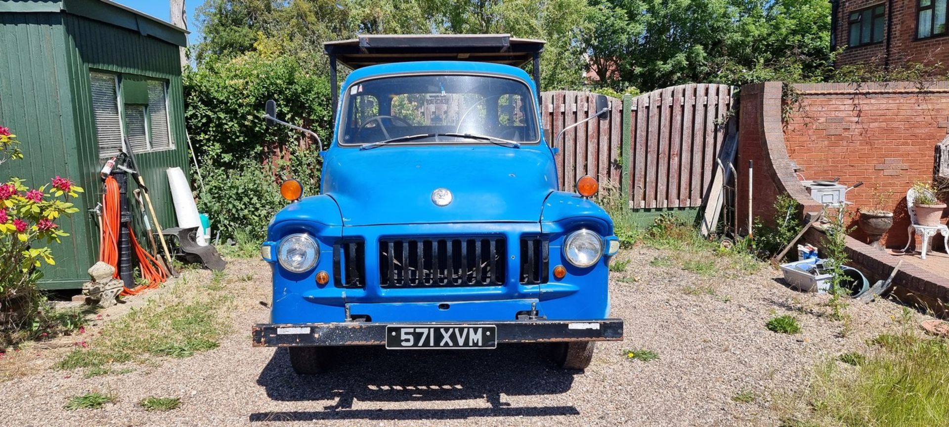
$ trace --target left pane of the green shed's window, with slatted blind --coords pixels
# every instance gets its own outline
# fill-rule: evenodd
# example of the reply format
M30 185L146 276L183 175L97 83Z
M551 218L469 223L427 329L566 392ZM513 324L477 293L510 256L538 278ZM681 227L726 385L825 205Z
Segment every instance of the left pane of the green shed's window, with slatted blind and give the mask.
M96 121L99 157L106 158L121 151L122 129L119 112L119 81L115 75L92 73L92 115Z

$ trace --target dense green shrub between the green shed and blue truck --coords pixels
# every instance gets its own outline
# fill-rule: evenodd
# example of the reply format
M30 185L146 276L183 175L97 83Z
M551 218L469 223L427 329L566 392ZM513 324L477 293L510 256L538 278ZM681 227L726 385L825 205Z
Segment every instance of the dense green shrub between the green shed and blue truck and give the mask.
M185 73L184 91L204 181L198 209L222 237L243 230L262 239L273 213L286 204L278 183L295 178L312 195L321 166L316 141L285 126L268 127L264 104L277 102L280 119L313 129L326 149L332 121L326 76L294 57L251 52L207 59Z

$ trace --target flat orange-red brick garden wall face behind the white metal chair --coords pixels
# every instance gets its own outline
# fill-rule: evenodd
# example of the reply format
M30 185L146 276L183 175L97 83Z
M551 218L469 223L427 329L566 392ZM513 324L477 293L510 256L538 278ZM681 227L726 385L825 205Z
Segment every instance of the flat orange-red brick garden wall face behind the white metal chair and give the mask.
M801 109L791 113L784 128L788 157L807 179L863 181L847 193L853 212L872 208L876 195L892 192L884 209L895 213L895 221L883 241L902 248L909 225L906 190L932 179L936 145L949 130L949 84L928 84L924 90L900 83L795 88L802 95ZM859 230L853 235L865 237Z

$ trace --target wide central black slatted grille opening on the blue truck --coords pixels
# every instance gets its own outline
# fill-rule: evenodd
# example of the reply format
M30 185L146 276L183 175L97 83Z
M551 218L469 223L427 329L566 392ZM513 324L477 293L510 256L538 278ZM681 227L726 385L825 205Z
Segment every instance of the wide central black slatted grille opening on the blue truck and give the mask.
M382 288L492 287L504 284L504 237L392 238L379 242Z

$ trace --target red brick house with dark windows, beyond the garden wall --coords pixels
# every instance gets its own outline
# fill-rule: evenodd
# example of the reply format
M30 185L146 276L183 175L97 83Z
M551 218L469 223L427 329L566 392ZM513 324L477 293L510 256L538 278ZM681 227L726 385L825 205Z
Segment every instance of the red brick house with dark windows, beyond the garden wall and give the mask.
M837 66L949 65L949 0L831 0Z

